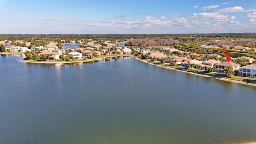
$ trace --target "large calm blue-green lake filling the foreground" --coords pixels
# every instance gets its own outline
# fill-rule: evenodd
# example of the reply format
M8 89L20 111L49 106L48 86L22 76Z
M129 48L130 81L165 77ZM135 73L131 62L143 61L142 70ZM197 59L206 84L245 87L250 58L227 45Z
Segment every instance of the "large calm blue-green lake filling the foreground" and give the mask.
M28 64L0 55L1 144L256 141L256 88L131 57Z

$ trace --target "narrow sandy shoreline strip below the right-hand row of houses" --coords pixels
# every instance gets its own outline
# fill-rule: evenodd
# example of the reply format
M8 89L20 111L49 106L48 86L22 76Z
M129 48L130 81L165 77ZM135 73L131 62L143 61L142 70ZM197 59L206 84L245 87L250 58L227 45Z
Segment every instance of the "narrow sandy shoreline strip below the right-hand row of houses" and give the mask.
M207 78L214 78L216 80L224 80L224 81L227 81L227 82L235 82L235 83L239 83L239 84L246 84L246 85L250 85L250 86L256 86L256 84L250 84L250 83L246 83L246 82L242 82L242 81L238 81L238 80L229 80L229 79L226 79L226 78L218 78L216 76L208 76L208 75L204 75L204 74L196 74L196 73L193 73L193 72L187 72L185 70L177 70L175 68L170 68L168 66L161 66L159 64L153 64L153 63L149 63L147 62L146 60L142 60L140 58L137 58L134 56L134 58L136 60L140 60L141 62L145 62L147 64L152 64L154 66L158 66L158 67L161 67L161 68L166 68L166 69L170 69L170 70L176 70L176 71L179 71L179 72L185 72L185 73L188 73L188 74L194 74L194 75L197 75L197 76L204 76L204 77L207 77ZM255 143L256 144L256 143Z

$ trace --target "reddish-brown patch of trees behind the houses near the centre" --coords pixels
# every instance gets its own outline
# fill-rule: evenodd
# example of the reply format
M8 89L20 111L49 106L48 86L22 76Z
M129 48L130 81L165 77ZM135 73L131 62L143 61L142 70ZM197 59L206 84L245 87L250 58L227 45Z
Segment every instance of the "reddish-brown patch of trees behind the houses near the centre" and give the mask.
M132 39L125 43L126 46L172 46L180 43L178 40L172 39Z

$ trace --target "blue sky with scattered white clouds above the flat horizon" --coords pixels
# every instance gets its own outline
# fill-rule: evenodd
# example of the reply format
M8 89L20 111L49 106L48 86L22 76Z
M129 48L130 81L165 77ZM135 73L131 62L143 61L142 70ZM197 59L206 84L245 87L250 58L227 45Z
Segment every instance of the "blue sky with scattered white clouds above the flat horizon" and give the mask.
M0 0L0 34L256 32L256 0Z

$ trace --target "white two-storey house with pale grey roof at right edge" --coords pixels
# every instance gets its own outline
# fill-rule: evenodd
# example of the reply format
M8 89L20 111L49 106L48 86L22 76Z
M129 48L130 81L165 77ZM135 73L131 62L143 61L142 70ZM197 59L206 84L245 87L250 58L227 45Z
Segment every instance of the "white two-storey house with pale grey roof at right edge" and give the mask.
M256 64L250 64L239 68L239 76L247 76L254 78L254 74L256 74Z

